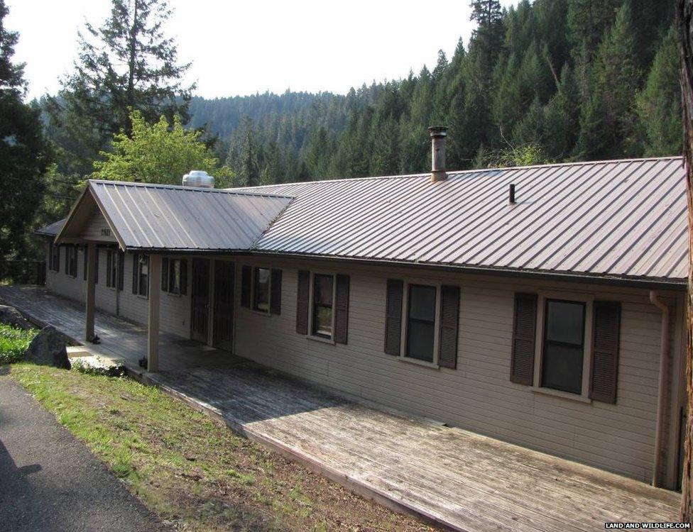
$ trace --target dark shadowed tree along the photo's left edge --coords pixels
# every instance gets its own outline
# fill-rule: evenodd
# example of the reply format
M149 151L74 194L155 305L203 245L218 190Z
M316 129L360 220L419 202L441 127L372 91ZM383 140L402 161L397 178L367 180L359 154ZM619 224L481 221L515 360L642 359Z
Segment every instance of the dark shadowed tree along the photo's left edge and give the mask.
M50 150L40 111L23 103L23 66L12 62L18 35L5 27L9 10L0 0L0 257L25 255L27 233L45 191Z

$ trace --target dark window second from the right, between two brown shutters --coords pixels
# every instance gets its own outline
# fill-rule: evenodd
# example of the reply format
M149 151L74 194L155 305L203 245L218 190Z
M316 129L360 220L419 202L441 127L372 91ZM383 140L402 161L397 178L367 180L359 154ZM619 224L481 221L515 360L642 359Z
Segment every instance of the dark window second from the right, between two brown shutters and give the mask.
M433 362L436 287L409 285L406 356Z

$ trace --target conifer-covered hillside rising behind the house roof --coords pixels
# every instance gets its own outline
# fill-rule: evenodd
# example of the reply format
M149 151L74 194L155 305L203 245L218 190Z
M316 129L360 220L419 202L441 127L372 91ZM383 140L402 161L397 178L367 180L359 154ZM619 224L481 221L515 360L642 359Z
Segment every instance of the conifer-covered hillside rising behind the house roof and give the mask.
M426 128L449 167L681 150L670 0L472 2L478 28L430 71L334 94L193 98L239 184L421 172Z

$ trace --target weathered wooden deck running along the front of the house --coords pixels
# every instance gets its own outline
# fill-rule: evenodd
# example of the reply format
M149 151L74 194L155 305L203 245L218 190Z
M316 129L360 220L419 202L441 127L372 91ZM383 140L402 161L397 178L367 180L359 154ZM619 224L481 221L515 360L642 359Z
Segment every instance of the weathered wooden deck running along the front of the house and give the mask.
M80 304L35 287L0 299L80 338ZM92 350L136 360L145 330L97 314ZM450 528L593 531L606 521L674 521L680 495L457 428L350 401L190 340L161 336L163 370L141 372L253 440L337 482Z

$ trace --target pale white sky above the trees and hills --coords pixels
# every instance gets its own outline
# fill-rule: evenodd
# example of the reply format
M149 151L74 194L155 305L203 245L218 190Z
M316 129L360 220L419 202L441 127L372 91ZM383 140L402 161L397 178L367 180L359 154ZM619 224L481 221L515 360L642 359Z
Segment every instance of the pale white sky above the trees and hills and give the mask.
M503 6L513 4L501 0ZM26 62L27 99L60 88L72 70L77 31L100 26L109 0L6 0L5 26L18 31L14 60ZM435 66L469 41L469 0L169 0L168 36L197 96L256 92L346 93L373 80Z

